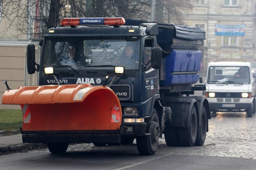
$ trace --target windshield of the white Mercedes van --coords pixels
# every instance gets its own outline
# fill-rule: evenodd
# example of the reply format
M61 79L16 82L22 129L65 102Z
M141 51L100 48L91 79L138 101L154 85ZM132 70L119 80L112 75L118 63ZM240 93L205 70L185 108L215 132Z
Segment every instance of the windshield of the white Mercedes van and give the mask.
M208 84L249 84L250 72L246 66L212 66L209 67Z

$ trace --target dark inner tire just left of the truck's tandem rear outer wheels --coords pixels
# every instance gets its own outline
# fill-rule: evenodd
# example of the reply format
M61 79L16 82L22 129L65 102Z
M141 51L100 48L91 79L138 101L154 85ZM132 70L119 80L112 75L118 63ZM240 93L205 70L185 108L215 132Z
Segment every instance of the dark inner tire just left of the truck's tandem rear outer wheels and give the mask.
M164 128L164 139L167 146L179 146L178 128L166 126Z

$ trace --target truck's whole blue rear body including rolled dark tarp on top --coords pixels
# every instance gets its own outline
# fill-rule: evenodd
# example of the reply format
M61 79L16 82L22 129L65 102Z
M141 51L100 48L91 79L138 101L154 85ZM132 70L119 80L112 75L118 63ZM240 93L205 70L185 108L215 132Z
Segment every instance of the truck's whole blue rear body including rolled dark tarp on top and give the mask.
M205 30L158 24L157 44L162 48L160 86L190 85L199 80Z

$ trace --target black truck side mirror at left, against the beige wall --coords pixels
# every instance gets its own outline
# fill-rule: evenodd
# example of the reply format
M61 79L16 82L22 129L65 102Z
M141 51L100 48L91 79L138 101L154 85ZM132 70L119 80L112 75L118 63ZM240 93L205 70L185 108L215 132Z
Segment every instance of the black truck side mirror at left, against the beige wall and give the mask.
M35 68L37 65L37 68ZM38 70L39 65L35 62L35 45L29 43L27 46L27 70L29 74L34 74Z

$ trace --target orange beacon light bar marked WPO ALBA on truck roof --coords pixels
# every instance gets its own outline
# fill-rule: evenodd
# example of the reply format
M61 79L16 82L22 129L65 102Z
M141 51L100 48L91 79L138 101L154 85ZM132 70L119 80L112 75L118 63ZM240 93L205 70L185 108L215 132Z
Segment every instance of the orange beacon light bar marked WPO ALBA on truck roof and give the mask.
M125 20L123 17L119 18L63 18L60 25L123 25Z

